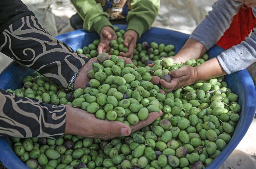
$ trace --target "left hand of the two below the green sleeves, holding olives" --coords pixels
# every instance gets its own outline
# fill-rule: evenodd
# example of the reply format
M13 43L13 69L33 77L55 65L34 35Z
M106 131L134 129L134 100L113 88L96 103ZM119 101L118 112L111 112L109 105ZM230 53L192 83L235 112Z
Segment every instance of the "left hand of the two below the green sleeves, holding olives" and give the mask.
M109 43L111 40L117 40L116 32L110 26L103 27L100 31L99 54L110 50Z

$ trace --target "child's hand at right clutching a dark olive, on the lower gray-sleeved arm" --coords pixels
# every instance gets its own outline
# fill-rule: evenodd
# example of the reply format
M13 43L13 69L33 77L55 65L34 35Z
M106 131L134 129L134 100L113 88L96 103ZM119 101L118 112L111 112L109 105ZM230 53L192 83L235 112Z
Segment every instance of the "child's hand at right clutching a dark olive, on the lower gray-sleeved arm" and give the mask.
M191 66L182 66L178 70L172 70L169 72L169 75L172 77L170 83L160 80L163 87L168 89L166 92L179 89L183 86L192 85L198 80L196 67Z

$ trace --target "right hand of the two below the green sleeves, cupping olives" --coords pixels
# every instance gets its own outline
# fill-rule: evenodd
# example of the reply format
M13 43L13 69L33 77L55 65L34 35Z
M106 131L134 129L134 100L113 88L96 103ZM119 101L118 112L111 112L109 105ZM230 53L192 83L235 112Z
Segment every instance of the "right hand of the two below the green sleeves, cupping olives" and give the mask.
M120 52L120 56L129 57L132 59L133 50L136 47L136 41L138 39L138 34L134 30L128 30L124 33L124 46L128 48L128 52Z

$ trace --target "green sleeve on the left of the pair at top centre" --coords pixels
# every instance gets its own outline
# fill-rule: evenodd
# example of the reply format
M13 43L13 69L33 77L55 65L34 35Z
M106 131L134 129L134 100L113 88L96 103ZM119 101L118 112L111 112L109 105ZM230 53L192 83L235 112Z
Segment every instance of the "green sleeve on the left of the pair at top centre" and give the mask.
M100 34L104 26L112 26L108 20L108 13L103 11L100 3L94 0L71 0L78 14L84 20L83 27L87 31Z

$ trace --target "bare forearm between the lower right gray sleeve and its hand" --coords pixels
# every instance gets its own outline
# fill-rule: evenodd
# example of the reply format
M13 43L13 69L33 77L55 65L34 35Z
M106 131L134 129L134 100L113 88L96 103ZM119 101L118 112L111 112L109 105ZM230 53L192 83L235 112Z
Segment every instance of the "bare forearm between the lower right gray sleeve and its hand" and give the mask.
M206 81L214 77L220 77L227 73L221 68L217 58L204 62L203 64L195 67L197 81Z

